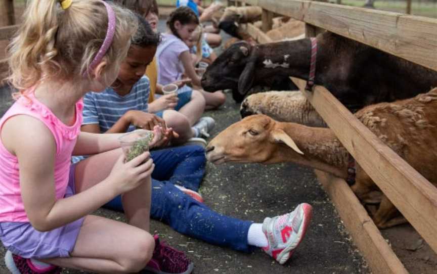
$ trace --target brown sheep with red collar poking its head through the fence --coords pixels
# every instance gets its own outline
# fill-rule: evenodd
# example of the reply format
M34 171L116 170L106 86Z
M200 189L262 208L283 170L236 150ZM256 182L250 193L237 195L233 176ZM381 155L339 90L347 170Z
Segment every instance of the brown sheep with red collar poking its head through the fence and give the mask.
M411 99L365 107L355 116L437 185L437 88ZM232 124L208 144L206 152L215 164L294 162L347 178L348 152L331 129L277 122L266 115ZM358 163L351 188L364 204L379 204L371 217L380 229L407 222Z

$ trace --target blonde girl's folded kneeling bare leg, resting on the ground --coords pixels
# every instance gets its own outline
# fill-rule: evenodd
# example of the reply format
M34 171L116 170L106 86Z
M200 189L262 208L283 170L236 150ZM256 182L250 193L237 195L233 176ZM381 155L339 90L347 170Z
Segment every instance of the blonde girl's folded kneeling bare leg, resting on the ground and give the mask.
M133 225L100 216L86 216L71 257L44 259L61 267L99 273L132 273L152 258L155 241Z

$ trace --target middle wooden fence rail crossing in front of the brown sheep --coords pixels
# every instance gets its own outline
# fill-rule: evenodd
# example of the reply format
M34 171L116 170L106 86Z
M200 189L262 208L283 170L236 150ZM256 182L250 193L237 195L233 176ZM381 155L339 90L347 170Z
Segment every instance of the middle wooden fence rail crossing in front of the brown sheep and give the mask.
M323 86L304 90L291 77L343 146L437 252L437 188L389 149Z

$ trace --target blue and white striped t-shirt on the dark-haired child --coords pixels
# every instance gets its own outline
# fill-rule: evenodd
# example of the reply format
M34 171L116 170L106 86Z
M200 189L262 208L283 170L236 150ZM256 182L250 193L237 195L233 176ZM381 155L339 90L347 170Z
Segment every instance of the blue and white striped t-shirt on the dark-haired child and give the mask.
M136 82L129 94L119 96L112 87L103 92L90 92L83 97L82 124L99 124L100 132L106 132L129 110L147 112L150 81L146 76ZM135 130L130 125L127 131Z

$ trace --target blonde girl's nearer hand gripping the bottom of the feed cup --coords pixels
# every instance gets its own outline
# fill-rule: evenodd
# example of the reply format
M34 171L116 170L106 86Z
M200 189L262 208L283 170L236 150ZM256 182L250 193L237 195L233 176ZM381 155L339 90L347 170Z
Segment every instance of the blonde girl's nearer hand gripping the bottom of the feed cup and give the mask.
M150 152L146 151L134 159L124 162L121 154L109 174L107 181L119 195L138 188L150 176L155 168Z

